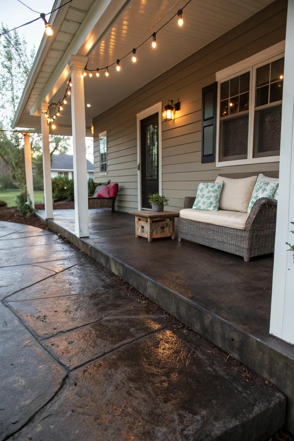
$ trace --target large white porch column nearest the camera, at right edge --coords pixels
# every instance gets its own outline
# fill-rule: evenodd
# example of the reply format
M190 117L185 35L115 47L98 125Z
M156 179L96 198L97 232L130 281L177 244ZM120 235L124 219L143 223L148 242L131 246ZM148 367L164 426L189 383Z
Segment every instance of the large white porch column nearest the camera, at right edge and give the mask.
M288 1L270 333L294 344L294 0Z

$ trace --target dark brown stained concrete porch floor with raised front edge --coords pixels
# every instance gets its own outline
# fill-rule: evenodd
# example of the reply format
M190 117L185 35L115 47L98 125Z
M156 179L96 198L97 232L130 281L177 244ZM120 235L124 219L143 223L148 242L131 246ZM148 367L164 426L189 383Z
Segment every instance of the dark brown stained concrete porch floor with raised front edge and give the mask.
M44 218L44 212L39 212ZM134 216L89 210L88 238L74 235L74 210L48 226L182 323L274 382L288 399L294 433L294 348L269 335L272 256L242 257L183 240L134 235Z

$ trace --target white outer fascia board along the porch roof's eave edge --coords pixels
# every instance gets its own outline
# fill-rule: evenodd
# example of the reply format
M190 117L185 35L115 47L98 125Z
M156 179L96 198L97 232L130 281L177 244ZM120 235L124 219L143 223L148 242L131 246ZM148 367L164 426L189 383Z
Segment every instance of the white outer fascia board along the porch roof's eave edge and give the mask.
M59 7L61 5L61 3L62 3L62 0L56 0L54 2L54 5L52 6L52 9ZM54 29L55 35L59 32L60 27L63 23L63 20L67 14L69 7L70 7L70 4L67 4L64 7L58 9L57 11L53 12L50 15L50 19L48 20L48 23L50 23L50 25ZM45 27L44 27L44 30L45 30ZM44 35L43 35L41 44L39 46L39 49L38 49L37 54L35 56L35 59L33 61L33 66L31 68L29 76L26 80L26 85L22 91L22 97L19 101L19 105L16 109L15 116L14 116L12 124L11 124L11 127L13 127L13 128L18 127L20 116L22 115L22 112L26 106L26 102L30 97L31 90L33 89L33 86L34 86L34 84L37 80L37 77L39 75L40 69L45 61L45 58L46 58L48 52L52 48L53 43L54 43L54 39L52 39L52 37L49 37L44 31Z

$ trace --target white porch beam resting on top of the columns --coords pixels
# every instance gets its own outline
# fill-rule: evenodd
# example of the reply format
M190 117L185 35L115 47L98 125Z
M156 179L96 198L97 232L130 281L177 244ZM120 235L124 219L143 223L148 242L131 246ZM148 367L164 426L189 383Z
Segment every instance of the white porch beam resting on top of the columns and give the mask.
M41 103L48 103L70 74L68 60L71 55L87 56L93 47L108 32L109 26L123 14L133 0L96 0L75 34L67 51L57 65L39 98L30 109L30 115L38 115ZM115 20L115 21L114 21Z

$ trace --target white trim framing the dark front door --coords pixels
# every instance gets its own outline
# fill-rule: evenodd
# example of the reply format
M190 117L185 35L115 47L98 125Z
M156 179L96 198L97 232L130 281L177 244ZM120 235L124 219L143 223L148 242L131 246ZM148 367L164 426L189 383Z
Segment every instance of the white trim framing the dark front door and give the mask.
M137 162L138 167L138 210L142 209L142 181L141 181L141 120L158 113L158 187L159 194L162 194L162 101L137 113Z

